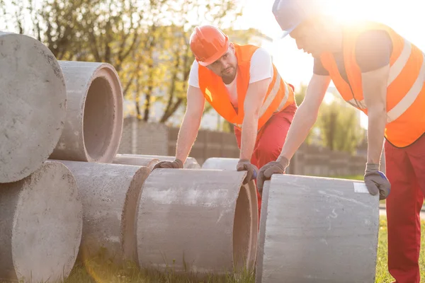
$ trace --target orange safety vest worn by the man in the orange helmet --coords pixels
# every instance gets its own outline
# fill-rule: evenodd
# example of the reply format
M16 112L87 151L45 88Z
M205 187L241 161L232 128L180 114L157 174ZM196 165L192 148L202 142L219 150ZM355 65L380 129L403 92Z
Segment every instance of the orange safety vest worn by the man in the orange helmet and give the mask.
M198 76L200 91L202 91L205 99L225 120L231 122L234 126L242 129L242 121L244 120L244 100L246 91L249 86L249 67L251 65L251 57L255 50L259 47L254 45L237 45L234 44L237 57L237 100L238 112L234 109L230 102L229 93L223 83L222 78L214 74L207 67L199 65ZM263 105L259 112L258 132L264 124L277 112L282 111L288 105L294 103L294 91L288 83L280 78L280 75L273 64L273 79Z

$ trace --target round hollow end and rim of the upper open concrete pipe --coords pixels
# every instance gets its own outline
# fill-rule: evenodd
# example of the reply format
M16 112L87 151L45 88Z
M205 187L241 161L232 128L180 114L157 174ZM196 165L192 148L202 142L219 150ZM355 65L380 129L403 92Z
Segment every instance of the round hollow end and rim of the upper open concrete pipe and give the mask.
M87 83L81 105L81 129L84 154L89 162L111 163L118 152L123 134L122 90L118 73L108 63L100 64ZM99 101L103 104L99 105Z

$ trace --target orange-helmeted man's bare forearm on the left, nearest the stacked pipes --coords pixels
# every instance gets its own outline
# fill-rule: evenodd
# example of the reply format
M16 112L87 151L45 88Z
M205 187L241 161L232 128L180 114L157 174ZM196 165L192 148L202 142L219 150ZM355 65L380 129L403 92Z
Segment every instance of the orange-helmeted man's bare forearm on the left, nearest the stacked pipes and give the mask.
M193 143L198 135L199 126L200 118L188 114L183 117L176 146L176 158L183 161L183 163L186 162L186 158L191 152Z

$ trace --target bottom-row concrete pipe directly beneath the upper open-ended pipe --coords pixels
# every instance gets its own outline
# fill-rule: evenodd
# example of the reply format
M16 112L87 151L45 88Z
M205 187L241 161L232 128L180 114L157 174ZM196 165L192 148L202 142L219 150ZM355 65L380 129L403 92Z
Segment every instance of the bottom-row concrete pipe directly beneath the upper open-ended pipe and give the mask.
M136 219L147 167L60 161L74 174L83 203L79 258L90 259L101 248L115 263L137 262Z

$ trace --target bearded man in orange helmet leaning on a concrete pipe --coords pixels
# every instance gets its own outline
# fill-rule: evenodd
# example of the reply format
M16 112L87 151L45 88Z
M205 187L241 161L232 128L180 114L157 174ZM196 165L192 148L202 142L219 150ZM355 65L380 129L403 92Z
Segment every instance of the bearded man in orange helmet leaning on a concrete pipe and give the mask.
M228 36L212 25L196 27L190 46L195 60L188 79L188 103L177 139L176 160L157 163L154 169L183 168L207 100L234 126L240 149L236 169L247 171L246 184L256 177L259 167L280 154L297 108L293 86L280 78L266 50L229 42Z

